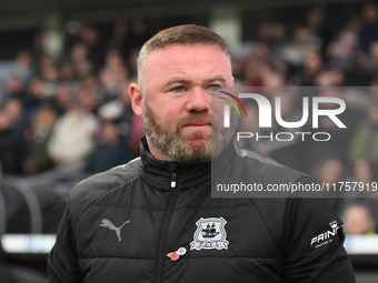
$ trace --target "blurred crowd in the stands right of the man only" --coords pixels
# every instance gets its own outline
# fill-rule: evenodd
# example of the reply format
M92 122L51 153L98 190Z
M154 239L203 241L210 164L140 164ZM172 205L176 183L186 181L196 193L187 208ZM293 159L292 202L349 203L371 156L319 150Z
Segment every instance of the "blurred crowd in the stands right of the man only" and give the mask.
M294 134L294 139L285 142L241 139L239 144L306 172L319 184L331 185L331 190L324 190L324 195L345 221L346 233L376 234L378 9L375 3L366 3L336 34L329 34L324 23L321 11L311 9L305 24L292 30L287 30L284 22L260 24L258 40L247 42L240 49L243 51L240 59L236 57L232 61L233 74L238 85L256 90L265 88L272 109L279 97L280 113L287 122L301 119L304 95L341 99L347 107L338 118L347 128L340 129L330 118L319 117L317 129L309 119L300 129L287 129L272 121L272 127L265 131L258 128L256 105L247 105L251 118L245 119L240 129L248 132L259 132L265 137L280 132L327 132L331 138L321 142ZM249 54L248 49L252 50ZM321 104L322 109L338 107L335 103ZM360 188L355 185L346 191L341 188L346 182ZM339 190L344 191L342 195Z

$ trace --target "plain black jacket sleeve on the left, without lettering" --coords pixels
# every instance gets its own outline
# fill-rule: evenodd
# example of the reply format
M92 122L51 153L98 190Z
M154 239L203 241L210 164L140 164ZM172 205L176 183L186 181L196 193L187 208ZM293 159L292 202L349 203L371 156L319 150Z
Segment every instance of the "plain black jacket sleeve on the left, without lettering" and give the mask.
M48 283L83 282L69 211L67 208L58 229L56 244L48 257Z

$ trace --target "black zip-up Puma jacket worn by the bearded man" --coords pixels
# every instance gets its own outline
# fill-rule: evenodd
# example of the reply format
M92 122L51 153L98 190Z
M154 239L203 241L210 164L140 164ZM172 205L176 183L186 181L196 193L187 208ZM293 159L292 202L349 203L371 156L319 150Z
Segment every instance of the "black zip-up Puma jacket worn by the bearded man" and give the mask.
M49 282L355 282L341 222L324 199L210 192L211 174L265 185L309 178L231 144L219 159L212 170L158 161L142 139L140 159L77 184ZM318 237L327 231L337 232Z

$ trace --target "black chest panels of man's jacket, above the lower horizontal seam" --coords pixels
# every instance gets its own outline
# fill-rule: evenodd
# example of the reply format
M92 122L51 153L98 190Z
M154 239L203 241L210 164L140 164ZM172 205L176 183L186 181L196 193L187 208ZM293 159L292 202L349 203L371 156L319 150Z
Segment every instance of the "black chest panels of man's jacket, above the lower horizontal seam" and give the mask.
M126 184L113 190L87 210L77 228L79 257L153 259L171 192L146 186L132 190L133 185ZM227 221L225 230L230 243L227 250L190 251L190 242L198 228L196 222L201 218L223 218ZM169 223L167 253L181 246L188 251L186 257L279 257L253 202L246 199L211 199L206 188L177 194Z

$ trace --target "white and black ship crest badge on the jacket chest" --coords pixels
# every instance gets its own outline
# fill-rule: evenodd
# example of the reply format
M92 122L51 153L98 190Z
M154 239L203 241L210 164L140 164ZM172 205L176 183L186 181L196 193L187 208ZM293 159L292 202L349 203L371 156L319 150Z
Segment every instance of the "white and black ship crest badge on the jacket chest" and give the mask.
M201 218L198 220L190 250L227 250L229 242L226 240L226 223L227 221L223 218Z

